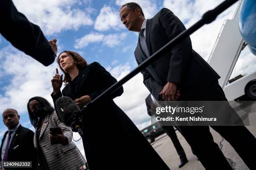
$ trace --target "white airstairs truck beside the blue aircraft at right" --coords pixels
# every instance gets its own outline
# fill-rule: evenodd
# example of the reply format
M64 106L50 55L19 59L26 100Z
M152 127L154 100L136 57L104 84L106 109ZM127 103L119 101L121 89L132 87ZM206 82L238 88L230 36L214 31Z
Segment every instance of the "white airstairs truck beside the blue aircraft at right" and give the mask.
M256 57L246 47L239 32L240 4L241 1L233 19L224 21L208 59L210 66L220 75L219 84L229 101L256 100L256 68L249 67L250 60L255 61Z

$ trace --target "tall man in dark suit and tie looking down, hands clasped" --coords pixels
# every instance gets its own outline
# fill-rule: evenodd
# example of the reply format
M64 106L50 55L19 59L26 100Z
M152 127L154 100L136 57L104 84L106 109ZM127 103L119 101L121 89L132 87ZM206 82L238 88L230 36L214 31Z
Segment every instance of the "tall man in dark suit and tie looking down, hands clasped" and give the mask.
M179 18L166 8L146 20L141 7L134 2L122 5L120 19L128 30L140 32L135 50L138 65L186 30ZM143 83L156 100L175 100L177 88L181 88L179 100L227 100L218 84L220 76L192 49L189 37L162 55L141 71ZM206 169L232 169L214 142L209 126L178 128ZM212 128L233 146L250 169L256 169L253 157L249 156L255 154L256 139L247 128L244 126L212 126Z

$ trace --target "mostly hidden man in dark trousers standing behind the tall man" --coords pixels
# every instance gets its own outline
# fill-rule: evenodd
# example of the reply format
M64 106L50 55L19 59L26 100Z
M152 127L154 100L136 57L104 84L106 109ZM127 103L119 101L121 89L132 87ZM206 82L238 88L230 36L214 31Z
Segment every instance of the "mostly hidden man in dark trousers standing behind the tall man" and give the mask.
M153 101L152 97L153 96L151 96L151 94L149 94L145 99L149 116L154 115L154 109L156 108L156 103ZM166 128L166 126L163 127L164 130L165 130L165 128ZM168 128L168 130L166 130L166 134L171 138L174 148L176 149L176 151L179 155L180 164L178 167L182 168L188 162L188 160L187 160L186 153L185 153L184 149L182 148L182 145L179 143L179 139L176 135L174 127L170 126Z

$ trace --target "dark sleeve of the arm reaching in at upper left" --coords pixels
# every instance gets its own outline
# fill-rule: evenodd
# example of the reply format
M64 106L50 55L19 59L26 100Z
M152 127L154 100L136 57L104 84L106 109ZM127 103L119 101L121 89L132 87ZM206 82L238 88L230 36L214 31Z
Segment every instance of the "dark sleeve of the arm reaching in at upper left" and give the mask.
M12 0L0 0L0 33L19 50L43 65L54 62L54 52L41 29L19 13Z

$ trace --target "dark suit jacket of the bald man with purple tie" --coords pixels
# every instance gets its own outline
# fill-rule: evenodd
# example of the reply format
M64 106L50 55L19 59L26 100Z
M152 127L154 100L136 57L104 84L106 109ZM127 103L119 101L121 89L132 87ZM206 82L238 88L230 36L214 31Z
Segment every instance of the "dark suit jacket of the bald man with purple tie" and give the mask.
M0 154L2 153L2 145L5 140L7 132L5 132L1 147ZM13 139L10 143L9 151L8 151L8 161L32 161L32 170L39 169L37 153L36 149L33 145L33 136L34 133L32 130L28 128L24 128L23 126L19 126L16 130L16 133L13 136ZM0 158L2 161L2 158ZM19 169L27 169L27 168L19 168ZM29 168L30 169L30 168Z

